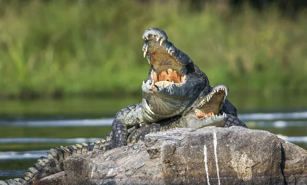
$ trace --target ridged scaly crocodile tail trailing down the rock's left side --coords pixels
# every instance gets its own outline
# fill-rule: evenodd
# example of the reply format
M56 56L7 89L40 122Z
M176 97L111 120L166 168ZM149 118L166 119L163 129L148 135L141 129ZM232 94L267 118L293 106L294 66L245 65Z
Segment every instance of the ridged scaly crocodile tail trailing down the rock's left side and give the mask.
M30 167L23 177L8 180L0 180L0 185L28 185L36 180L64 170L65 158L76 154L90 154L93 150L107 150L111 145L113 132L104 139L95 142L82 143L60 148L55 147L47 152L47 157L40 157L33 167Z

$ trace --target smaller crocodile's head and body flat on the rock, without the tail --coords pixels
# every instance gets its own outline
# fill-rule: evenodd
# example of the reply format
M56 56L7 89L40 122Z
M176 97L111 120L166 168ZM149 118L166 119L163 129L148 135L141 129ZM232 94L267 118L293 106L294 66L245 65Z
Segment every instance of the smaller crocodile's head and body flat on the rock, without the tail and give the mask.
M199 96L182 116L164 119L157 123L141 126L135 130L131 129L131 134L127 138L127 145L144 141L144 137L148 133L175 128L246 127L239 118L222 111L227 94L227 86L214 86L210 93L205 96Z

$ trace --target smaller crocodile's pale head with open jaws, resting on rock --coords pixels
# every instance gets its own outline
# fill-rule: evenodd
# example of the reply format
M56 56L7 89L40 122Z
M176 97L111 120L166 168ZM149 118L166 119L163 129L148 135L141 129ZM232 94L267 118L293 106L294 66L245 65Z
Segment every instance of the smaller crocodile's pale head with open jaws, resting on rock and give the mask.
M187 128L224 127L226 114L222 106L228 94L225 85L214 86L212 91L205 96L199 96L187 113L181 117L181 124Z

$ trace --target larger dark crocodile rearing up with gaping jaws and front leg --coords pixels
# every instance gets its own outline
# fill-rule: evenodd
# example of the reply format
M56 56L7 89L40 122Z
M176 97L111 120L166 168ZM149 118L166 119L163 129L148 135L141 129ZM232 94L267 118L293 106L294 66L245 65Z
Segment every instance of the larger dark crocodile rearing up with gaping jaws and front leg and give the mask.
M212 91L206 74L191 58L168 41L158 28L145 30L143 56L150 64L148 77L143 81L142 102L120 110L113 121L110 148L124 146L127 130L138 122L151 124L182 115L199 97ZM227 99L223 112L237 117L236 108Z

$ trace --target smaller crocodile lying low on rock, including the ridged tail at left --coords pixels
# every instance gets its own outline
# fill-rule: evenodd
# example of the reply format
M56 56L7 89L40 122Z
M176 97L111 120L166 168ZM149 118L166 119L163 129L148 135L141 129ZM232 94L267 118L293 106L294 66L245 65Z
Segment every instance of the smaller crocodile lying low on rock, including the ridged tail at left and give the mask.
M225 104L228 88L225 85L217 85L205 96L199 96L182 116L164 119L149 125L142 125L132 130L127 137L126 145L144 141L148 133L166 131L173 128L203 128L203 127L231 127L246 125L236 116L222 111ZM136 124L141 125L141 122ZM135 127L136 127L135 126ZM8 184L33 184L36 180L58 173L64 170L64 159L75 154L89 154L94 150L109 150L112 143L113 131L102 140L55 147L47 152L47 157L40 157L33 167L29 168L22 178L0 180L0 185Z

